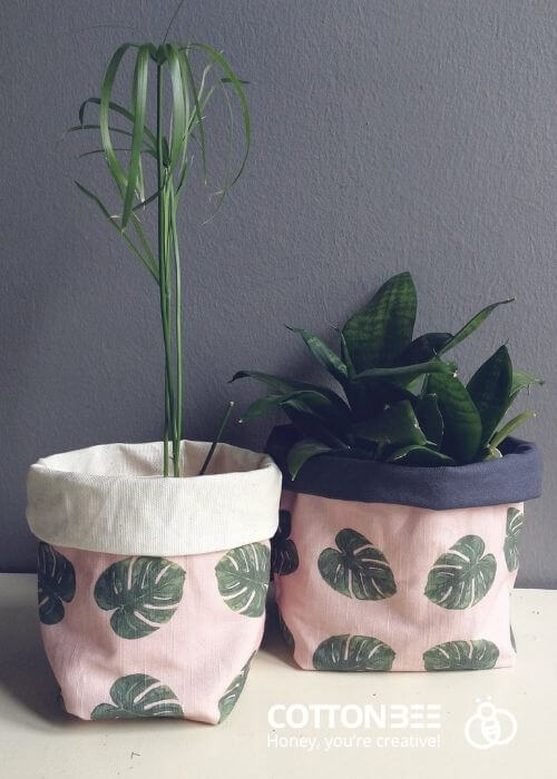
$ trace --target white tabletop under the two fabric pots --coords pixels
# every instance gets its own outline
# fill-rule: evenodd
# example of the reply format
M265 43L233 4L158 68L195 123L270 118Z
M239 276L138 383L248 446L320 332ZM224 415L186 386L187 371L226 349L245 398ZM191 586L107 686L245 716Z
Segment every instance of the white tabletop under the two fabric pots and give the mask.
M535 772L550 779L557 777L557 592L517 590L512 609L519 652L512 669L301 671L271 620L244 692L223 724L82 722L62 713L57 702L57 684L40 643L36 576L0 574L0 776L524 779ZM471 722L469 736L478 745L472 746L465 728L477 699L492 703L499 713L495 721ZM272 707L275 727L268 722ZM315 727L317 712L321 728ZM440 727L393 727L412 713L414 724ZM336 727L328 727L329 716ZM302 728L286 724L307 717ZM368 727L346 727L359 717L369 718ZM381 717L387 727L379 727ZM514 721L516 736L494 746L512 737Z

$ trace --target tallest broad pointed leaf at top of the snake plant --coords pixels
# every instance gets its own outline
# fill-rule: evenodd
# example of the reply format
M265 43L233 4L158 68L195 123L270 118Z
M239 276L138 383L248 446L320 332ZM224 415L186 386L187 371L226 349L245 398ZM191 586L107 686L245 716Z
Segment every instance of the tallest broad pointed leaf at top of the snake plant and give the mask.
M390 278L342 328L358 373L392 365L412 339L416 287L405 272Z

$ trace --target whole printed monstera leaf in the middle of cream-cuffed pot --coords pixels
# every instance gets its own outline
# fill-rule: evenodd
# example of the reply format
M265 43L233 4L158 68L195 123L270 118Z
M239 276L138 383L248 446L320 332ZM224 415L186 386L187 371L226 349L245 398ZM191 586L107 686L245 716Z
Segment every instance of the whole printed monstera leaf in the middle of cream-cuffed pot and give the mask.
M95 600L105 611L114 611L110 627L117 635L143 639L173 618L185 575L165 558L126 558L97 579Z

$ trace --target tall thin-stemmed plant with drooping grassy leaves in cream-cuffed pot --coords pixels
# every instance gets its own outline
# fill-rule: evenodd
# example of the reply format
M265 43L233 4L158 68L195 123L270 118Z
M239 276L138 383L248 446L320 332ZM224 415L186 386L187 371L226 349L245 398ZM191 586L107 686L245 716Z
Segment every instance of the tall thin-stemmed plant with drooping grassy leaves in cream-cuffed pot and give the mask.
M178 205L189 181L193 144L201 157L204 181L207 179L206 111L214 96L223 95L227 108L228 161L236 136L233 100L237 100L242 114L242 159L237 169L226 175L224 185L216 193L221 199L244 170L251 128L243 89L246 82L236 76L222 52L208 43L167 42L169 27L159 46L146 42L118 47L108 62L99 96L82 102L79 124L70 131L92 130L100 134L101 148L87 154L105 157L120 204L118 213L114 214L97 194L76 184L120 234L158 286L165 351L163 471L165 476L169 475L172 460L173 475L179 476L184 372ZM120 66L130 56L135 58L134 75L129 103L125 106L117 102L113 93ZM98 108L98 119L86 119L91 108ZM147 125L149 109L155 117L153 129ZM115 137L124 139L126 144L115 145ZM147 186L149 176L154 179L150 187ZM156 248L143 221L144 211L149 206L157 207Z

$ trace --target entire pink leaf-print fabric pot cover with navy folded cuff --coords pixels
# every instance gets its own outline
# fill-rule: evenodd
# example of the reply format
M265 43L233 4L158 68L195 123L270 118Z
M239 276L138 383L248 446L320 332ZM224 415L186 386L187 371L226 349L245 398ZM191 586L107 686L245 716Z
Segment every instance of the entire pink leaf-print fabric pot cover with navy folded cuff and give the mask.
M510 592L524 501L540 494L532 444L455 467L322 455L294 482L295 441L276 427L283 472L272 568L296 663L328 671L444 671L512 665Z

